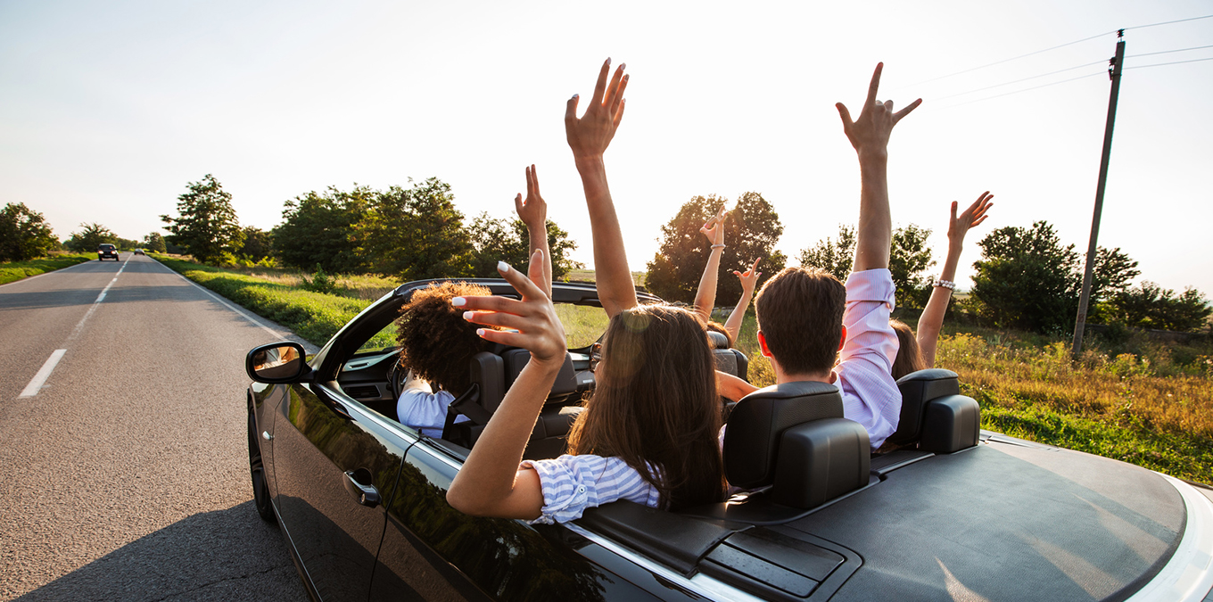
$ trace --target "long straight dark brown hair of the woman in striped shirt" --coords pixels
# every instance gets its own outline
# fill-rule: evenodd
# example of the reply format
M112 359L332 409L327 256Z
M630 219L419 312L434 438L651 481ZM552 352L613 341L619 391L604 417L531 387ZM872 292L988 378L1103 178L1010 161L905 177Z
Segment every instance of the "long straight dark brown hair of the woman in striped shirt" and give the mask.
M667 305L611 318L570 454L617 456L679 510L724 499L721 398L702 322Z

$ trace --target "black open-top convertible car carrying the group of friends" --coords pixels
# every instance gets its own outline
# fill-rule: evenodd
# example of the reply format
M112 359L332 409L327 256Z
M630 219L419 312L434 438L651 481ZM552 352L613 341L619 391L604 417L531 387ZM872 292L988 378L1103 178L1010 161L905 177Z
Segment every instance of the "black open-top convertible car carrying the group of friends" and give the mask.
M400 425L393 320L428 284L383 296L309 359L290 342L249 352L256 506L315 600L1213 600L1213 490L980 431L946 370L901 380L884 454L828 385L722 408L729 481L752 492L725 504L620 501L558 526L465 516L445 490L529 356L477 356L452 404L471 420L442 438ZM528 458L563 451L605 324L593 285L553 297L573 340ZM745 376L745 356L716 353Z

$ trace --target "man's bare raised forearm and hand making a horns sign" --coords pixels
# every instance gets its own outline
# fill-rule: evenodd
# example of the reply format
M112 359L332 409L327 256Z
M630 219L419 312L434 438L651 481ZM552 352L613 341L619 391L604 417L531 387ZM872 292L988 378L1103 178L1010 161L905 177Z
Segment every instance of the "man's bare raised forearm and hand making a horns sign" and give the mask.
M872 81L867 86L867 100L852 121L850 112L843 103L836 104L842 118L842 129L850 146L859 153L859 172L862 189L859 195L859 228L855 235L855 263L853 269L862 272L889 267L889 246L893 243L893 218L889 216L888 147L893 126L922 103L922 98L894 113L893 101L879 102L876 91L881 86L884 63L877 63Z

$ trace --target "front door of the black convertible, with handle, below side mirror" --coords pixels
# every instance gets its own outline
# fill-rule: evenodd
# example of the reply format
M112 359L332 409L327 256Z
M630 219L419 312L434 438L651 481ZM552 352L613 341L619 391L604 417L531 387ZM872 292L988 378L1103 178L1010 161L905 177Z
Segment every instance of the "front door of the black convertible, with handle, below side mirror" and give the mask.
M287 536L321 600L364 602L409 442L325 385L290 385L280 409L274 481Z

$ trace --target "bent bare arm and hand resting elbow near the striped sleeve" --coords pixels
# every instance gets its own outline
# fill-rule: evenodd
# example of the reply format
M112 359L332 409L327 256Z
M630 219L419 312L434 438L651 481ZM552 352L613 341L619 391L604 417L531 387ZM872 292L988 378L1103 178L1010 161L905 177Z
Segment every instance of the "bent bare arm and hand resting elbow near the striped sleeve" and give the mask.
M531 359L523 368L501 405L485 425L467 461L446 490L446 501L460 512L500 518L539 518L543 493L534 470L518 470L526 439L535 427L556 375L564 365L564 328L552 301L543 294L539 251L531 255L529 274L499 263L497 271L522 295L506 297L455 297L467 308L468 322L506 326L516 331L480 329L482 337L523 347Z

